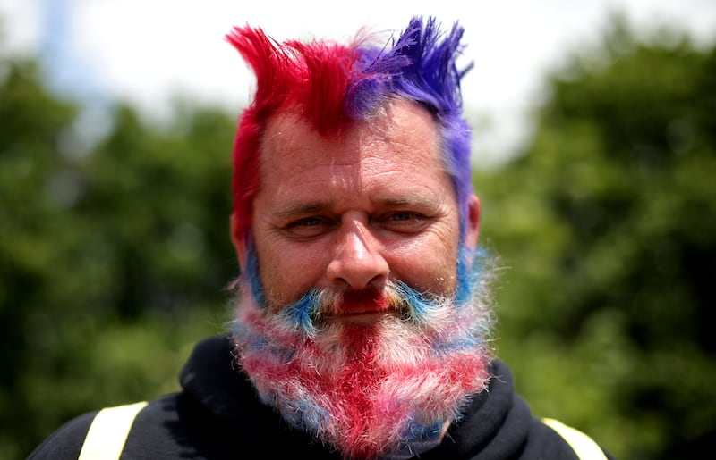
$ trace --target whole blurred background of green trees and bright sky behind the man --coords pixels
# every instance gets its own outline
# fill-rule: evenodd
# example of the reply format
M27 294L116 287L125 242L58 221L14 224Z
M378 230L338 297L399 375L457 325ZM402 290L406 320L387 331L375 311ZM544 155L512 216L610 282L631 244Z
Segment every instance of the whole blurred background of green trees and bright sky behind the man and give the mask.
M716 4L460 3L0 0L0 458L178 389L225 331L252 86L226 31L341 39L412 14L466 28L517 390L618 458L713 451Z

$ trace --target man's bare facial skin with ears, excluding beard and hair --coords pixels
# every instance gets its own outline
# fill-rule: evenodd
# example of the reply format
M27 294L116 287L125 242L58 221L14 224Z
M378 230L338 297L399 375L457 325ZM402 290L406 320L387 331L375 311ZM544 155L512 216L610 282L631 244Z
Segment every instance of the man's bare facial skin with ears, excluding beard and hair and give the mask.
M268 305L280 309L312 288L378 291L402 280L421 292L456 287L459 223L434 121L396 102L338 139L283 113L268 123L252 232ZM477 238L470 205L465 244ZM234 241L245 268L246 248ZM356 302L336 321L371 321L379 306ZM366 306L372 305L372 306Z

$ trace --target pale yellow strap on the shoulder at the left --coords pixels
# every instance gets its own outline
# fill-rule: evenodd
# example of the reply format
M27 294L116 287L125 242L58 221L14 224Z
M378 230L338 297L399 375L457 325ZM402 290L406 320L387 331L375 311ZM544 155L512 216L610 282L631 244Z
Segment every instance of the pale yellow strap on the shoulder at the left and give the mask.
M77 460L118 460L132 422L144 406L147 403L142 401L99 411L87 431Z

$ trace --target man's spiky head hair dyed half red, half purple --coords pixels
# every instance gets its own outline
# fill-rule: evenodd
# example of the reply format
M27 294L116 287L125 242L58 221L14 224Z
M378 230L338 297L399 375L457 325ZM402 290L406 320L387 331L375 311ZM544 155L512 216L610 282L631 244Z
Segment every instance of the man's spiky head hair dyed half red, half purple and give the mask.
M268 119L297 111L321 135L337 136L351 121L400 98L425 106L439 126L448 174L465 230L472 192L471 131L463 117L458 71L461 27L443 34L433 18L413 17L398 38L376 45L367 38L339 45L328 41L278 43L261 29L234 28L226 38L256 75L256 92L243 112L234 140L234 214L239 238L251 231L253 197L259 188L261 136Z

